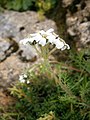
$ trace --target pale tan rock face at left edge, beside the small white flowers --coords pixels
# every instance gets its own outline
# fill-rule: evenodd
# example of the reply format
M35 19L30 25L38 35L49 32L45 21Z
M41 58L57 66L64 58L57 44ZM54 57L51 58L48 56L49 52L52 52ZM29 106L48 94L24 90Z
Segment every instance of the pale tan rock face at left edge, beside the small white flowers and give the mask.
M24 69L29 68L30 63L23 63L17 55L11 55L0 63L0 91L7 90L19 80L19 75Z

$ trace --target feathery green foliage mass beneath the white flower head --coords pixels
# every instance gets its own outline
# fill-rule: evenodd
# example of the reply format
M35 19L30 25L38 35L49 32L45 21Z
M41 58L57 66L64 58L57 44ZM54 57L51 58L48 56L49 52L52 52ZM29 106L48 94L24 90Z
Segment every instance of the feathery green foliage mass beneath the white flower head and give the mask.
M0 120L90 120L90 58L70 51L65 63L52 61L27 70L30 83L11 88L17 99Z

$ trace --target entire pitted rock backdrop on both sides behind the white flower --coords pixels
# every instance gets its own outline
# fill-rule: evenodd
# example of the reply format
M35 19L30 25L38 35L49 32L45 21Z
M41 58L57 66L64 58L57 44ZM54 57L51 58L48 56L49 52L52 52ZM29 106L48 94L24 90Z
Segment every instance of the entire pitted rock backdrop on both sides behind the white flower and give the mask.
M57 8L47 17L40 20L32 11L0 13L0 99L6 96L1 92L38 61L32 47L19 45L28 34L54 28L77 48L90 47L90 0L59 0Z

